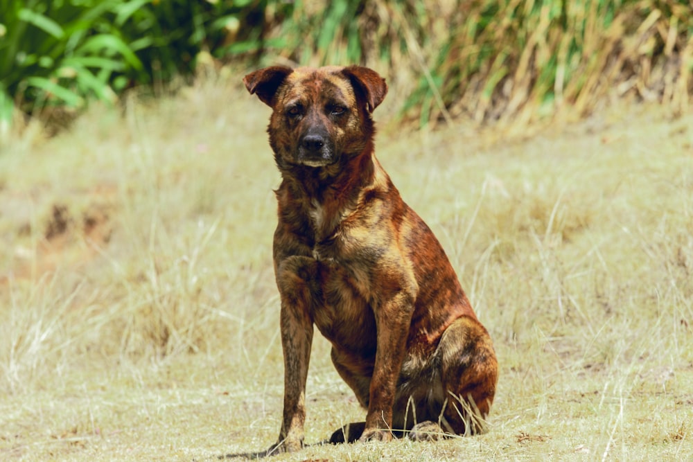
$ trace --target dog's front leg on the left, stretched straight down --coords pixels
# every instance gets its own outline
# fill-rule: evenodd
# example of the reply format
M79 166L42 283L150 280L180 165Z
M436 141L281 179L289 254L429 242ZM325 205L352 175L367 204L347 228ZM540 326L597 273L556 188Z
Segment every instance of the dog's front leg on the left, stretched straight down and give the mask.
M313 342L310 284L315 260L290 257L277 268L281 295L281 345L284 353L284 411L279 441L267 454L300 450L306 422L306 377Z

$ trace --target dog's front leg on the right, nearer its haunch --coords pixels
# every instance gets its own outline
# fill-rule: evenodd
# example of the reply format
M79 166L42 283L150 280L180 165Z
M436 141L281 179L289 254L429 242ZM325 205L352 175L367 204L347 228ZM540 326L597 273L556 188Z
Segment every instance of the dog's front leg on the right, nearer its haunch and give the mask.
M392 439L392 407L405 355L412 306L412 296L401 290L374 310L378 344L366 426L360 441Z

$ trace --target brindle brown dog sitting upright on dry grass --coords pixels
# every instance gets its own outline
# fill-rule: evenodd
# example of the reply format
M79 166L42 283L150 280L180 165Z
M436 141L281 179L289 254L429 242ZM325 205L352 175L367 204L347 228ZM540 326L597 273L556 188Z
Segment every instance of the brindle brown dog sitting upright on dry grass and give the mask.
M303 445L313 324L368 409L332 441L479 431L498 363L441 245L374 155L371 112L385 80L359 66L274 66L243 82L274 111L267 131L282 177L274 272L284 412L269 453Z

